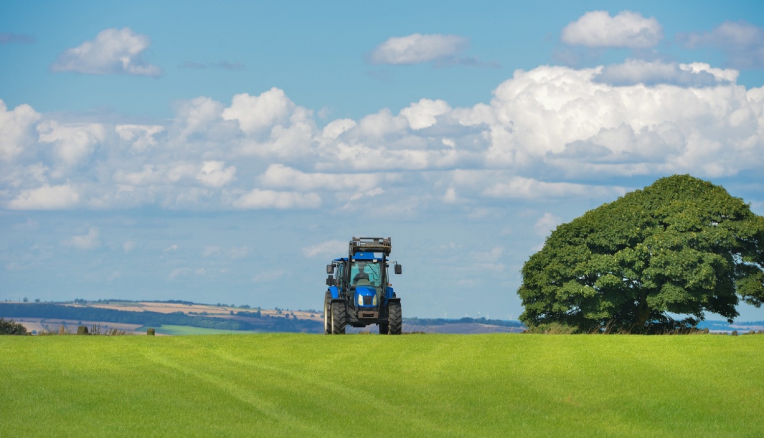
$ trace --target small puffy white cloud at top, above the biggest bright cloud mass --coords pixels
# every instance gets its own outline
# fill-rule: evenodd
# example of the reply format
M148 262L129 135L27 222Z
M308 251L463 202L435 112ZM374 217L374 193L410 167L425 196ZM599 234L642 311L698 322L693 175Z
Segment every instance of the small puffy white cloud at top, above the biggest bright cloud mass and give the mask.
M562 42L569 46L626 47L649 49L663 38L663 27L654 17L621 11L611 17L607 11L590 11L562 29Z

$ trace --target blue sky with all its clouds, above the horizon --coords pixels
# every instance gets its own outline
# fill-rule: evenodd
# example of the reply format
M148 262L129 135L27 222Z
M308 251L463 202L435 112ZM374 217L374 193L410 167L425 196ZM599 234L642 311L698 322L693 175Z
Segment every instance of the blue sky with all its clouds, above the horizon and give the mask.
M390 235L406 315L516 318L549 230L656 178L764 214L762 9L3 2L0 299L318 308Z

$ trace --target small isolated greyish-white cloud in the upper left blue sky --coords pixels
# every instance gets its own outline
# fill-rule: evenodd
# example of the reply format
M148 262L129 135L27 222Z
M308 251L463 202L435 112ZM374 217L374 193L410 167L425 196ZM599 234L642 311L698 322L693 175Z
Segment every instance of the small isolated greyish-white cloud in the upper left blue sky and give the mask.
M136 34L131 28L105 29L95 40L66 49L51 68L54 72L161 76L159 67L143 59L150 45L147 35Z

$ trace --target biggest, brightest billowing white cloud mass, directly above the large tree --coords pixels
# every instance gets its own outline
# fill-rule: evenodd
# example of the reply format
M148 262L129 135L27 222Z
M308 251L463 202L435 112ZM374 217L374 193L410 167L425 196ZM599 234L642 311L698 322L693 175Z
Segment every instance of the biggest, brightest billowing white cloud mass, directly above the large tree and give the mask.
M762 89L610 86L595 80L602 70L538 67L502 83L488 122L490 165L551 166L581 176L720 176L764 161L757 153ZM634 141L605 139L621 127Z

